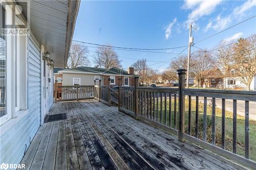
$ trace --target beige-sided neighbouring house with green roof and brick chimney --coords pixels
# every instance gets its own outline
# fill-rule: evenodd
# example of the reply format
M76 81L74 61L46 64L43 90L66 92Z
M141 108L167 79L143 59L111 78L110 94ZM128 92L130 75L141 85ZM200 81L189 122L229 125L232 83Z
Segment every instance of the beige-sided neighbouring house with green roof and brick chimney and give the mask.
M111 85L117 86L118 79L122 78L123 86L134 86L134 67L128 67L128 71L124 71L117 67L110 69L95 68L95 67L77 67L73 69L59 69L55 74L55 80L62 77L63 86L79 85L99 85L101 80L101 86L108 85L108 79L111 79Z

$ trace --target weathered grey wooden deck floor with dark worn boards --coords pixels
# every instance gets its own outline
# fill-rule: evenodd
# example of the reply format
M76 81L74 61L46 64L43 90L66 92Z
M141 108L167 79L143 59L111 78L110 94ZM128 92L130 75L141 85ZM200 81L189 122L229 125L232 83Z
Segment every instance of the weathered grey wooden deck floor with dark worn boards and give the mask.
M62 102L42 125L21 163L27 169L244 169L98 101Z

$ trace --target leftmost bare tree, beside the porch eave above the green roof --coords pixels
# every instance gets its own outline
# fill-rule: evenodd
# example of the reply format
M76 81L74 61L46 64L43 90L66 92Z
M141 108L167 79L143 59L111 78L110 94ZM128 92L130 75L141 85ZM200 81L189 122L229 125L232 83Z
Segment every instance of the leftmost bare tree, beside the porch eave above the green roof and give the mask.
M70 48L70 56L68 58L67 67L76 68L80 66L89 66L88 48L79 44L72 44Z

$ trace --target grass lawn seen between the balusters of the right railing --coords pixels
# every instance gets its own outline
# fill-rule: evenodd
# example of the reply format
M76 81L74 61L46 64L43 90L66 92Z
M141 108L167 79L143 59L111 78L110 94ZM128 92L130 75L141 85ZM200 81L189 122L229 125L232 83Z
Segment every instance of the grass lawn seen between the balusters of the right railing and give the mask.
M156 100L156 99L155 99ZM153 102L153 100L152 100ZM169 126L169 99L166 100L167 107L167 119L166 125ZM162 122L165 123L164 120L164 98L163 98L163 115ZM156 107L156 104L155 104ZM153 108L153 106L152 106ZM174 127L174 99L172 98L172 127ZM177 99L177 111L178 111L178 99ZM158 117L160 122L160 98L159 98L159 108L158 108ZM153 112L152 112L153 114ZM155 108L156 115L156 108ZM195 136L195 117L196 117L196 101L191 101L191 135ZM216 107L216 145L221 147L221 109ZM177 127L178 127L178 114L177 114ZM245 119L243 116L237 115L237 154L245 156ZM199 138L202 139L203 134L203 103L199 102ZM256 161L256 121L249 121L249 158ZM185 133L187 133L188 129L188 100L185 100ZM226 119L225 119L225 138L226 138L226 150L232 152L232 136L233 136L233 113L226 111ZM207 141L211 142L211 106L207 106Z

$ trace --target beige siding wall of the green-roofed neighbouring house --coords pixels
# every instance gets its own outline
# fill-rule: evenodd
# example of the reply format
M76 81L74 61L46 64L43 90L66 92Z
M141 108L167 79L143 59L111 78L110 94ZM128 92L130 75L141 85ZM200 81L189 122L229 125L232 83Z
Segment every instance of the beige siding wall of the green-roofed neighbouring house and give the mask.
M103 85L104 81L101 75L73 74L73 73L62 73L62 85L73 86L73 78L80 78L81 85L94 85L95 76L99 76L99 79L101 79L101 85ZM96 85L98 85L98 82L96 82Z

